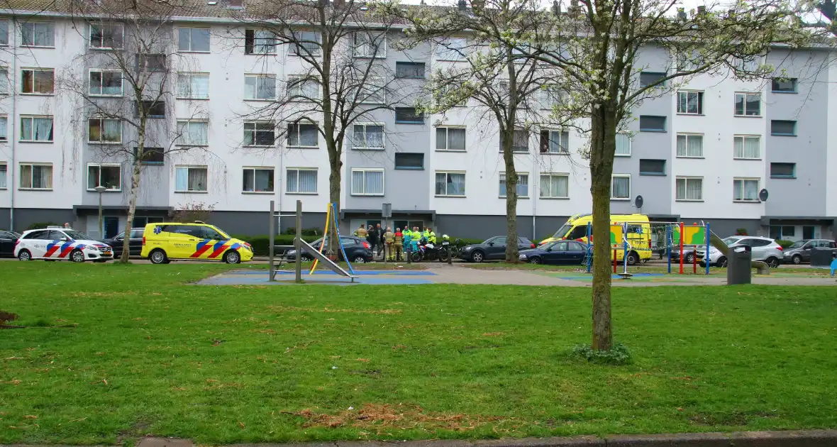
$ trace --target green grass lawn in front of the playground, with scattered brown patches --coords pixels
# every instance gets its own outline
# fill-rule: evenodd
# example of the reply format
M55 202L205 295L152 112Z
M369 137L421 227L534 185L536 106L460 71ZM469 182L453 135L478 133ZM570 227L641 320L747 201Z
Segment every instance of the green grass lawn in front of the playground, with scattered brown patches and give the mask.
M198 286L225 265L2 262L0 444L837 427L837 289ZM62 326L62 327L49 327Z

